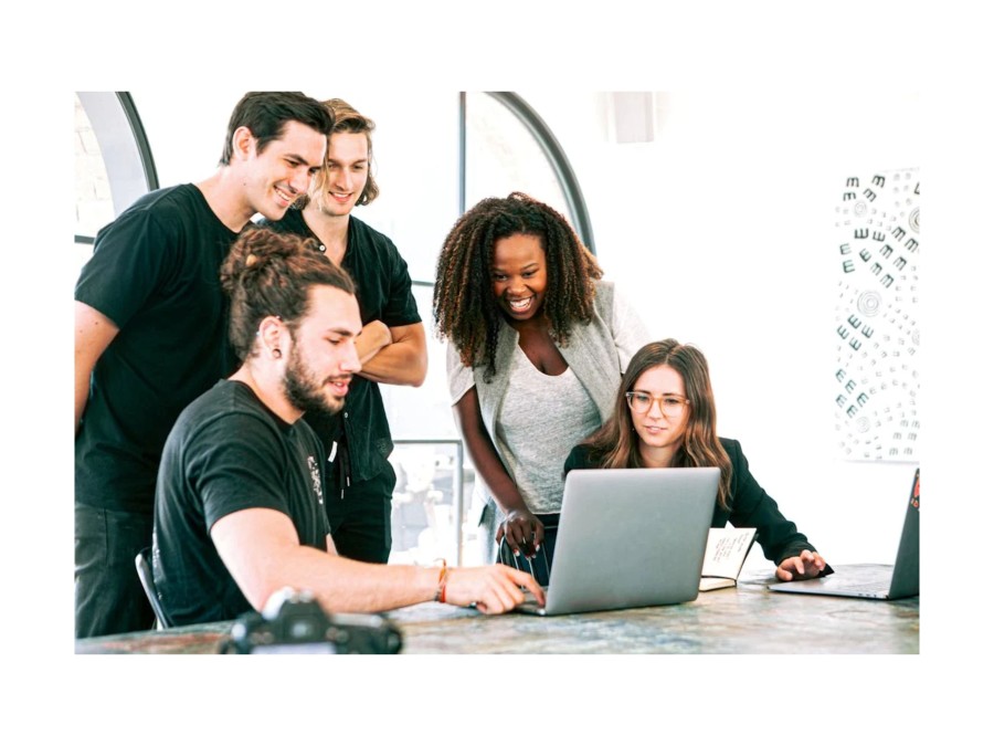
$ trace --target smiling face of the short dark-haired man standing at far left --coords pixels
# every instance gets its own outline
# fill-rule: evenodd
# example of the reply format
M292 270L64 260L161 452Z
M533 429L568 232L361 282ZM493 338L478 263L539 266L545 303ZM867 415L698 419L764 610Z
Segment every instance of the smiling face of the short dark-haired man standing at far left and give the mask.
M246 127L235 133L235 141L236 154L242 154L240 179L250 217L258 212L279 220L310 187L324 160L327 138L305 124L287 122L283 135L261 153Z

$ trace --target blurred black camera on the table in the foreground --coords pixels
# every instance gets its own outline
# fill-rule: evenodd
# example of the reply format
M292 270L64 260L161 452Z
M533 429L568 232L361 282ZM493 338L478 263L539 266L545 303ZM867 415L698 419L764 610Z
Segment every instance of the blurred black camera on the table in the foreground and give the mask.
M327 614L308 592L277 591L235 620L224 653L396 653L401 632L378 614Z

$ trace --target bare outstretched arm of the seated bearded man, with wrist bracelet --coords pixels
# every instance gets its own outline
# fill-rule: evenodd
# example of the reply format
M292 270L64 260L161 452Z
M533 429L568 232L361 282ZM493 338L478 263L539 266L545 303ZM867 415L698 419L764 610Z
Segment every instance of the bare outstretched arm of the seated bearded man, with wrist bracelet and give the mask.
M255 609L286 586L310 590L331 613L387 611L431 601L440 590L438 568L370 565L302 546L289 517L271 508L231 513L214 523L211 538ZM525 600L519 586L544 601L530 575L503 565L450 570L445 600L500 613Z

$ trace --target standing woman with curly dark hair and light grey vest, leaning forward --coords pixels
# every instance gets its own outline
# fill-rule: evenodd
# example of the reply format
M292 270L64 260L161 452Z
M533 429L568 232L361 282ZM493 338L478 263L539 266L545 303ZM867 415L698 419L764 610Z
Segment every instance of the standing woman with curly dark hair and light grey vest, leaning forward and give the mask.
M497 542L535 556L562 502L570 448L612 413L622 371L648 339L596 259L548 204L514 192L467 211L445 239L435 330L476 466L485 561Z

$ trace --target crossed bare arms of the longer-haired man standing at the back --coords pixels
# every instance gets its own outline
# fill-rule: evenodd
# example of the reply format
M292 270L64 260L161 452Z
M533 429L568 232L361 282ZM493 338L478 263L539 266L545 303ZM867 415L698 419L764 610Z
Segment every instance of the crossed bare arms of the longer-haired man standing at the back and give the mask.
M369 339L364 342L367 335ZM356 347L362 364L362 371L358 375L363 378L398 386L421 386L424 382L427 345L423 323L388 327L382 322L370 322L356 338Z

